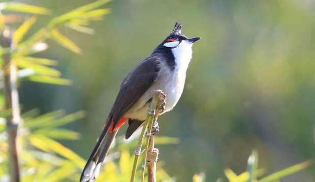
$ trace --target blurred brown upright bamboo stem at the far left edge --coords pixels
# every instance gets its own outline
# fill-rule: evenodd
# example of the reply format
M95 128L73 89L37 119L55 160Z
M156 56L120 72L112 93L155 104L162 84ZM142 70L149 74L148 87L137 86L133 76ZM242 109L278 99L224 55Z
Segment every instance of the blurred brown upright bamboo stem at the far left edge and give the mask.
M12 33L5 30L1 37L1 46L3 48L12 48L11 44ZM11 110L11 114L7 119L8 129L8 143L9 143L9 165L10 165L10 181L20 181L20 168L19 168L19 139L18 129L21 125L19 96L17 90L17 67L11 61L10 52L4 53L3 58L3 78L4 78L4 91L6 98L6 110Z

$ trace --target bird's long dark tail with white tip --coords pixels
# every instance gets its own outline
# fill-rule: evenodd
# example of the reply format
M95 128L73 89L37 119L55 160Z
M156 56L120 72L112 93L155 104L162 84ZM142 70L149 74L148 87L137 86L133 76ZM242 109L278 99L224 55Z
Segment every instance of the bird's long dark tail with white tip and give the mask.
M112 143L118 130L111 131L110 122L106 125L101 133L101 136L94 147L92 154L85 164L83 172L80 177L80 182L92 182L98 177L103 161L108 153L110 144Z

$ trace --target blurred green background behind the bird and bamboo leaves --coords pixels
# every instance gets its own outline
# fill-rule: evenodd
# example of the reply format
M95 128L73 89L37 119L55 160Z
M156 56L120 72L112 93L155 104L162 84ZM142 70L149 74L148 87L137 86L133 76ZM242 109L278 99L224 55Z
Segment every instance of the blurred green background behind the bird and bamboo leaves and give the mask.
M53 10L39 17L40 27L92 1L23 2ZM159 135L180 138L159 146L165 170L178 181L199 171L214 181L226 167L244 171L253 149L269 172L313 158L315 1L117 0L106 7L112 13L92 24L94 35L64 29L82 55L53 42L39 54L61 60L58 69L72 86L24 82L20 88L23 111L87 112L68 126L82 135L62 141L67 147L88 158L122 79L179 21L185 35L202 39L193 47L179 103L159 118ZM314 180L313 167L283 179Z

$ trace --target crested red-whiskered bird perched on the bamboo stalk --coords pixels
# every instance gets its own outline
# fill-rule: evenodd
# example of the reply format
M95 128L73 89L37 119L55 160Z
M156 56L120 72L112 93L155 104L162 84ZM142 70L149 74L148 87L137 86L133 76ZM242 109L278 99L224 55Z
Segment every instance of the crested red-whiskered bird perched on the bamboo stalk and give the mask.
M128 121L128 139L145 121L154 90L162 90L167 101L158 115L171 111L184 89L186 70L192 59L192 46L199 37L187 38L182 25L173 31L153 52L131 70L106 119L102 133L82 171L80 182L94 181L118 129Z

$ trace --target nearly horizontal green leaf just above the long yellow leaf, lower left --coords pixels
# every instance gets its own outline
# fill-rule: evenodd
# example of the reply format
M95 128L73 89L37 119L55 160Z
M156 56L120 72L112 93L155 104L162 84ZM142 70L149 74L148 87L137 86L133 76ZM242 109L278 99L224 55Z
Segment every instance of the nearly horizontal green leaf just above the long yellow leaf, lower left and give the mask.
M75 140L80 138L80 133L67 129L44 128L35 130L34 133L42 134L54 139Z

